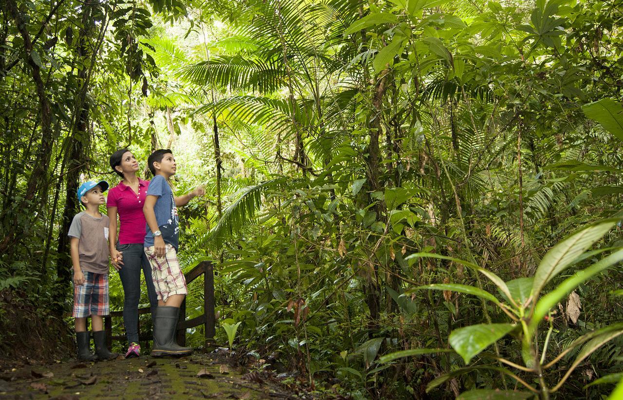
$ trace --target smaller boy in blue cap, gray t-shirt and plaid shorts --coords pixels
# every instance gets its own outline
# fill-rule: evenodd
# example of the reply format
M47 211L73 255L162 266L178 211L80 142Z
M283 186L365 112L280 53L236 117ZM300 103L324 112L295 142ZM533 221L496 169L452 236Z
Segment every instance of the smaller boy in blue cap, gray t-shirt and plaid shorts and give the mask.
M108 225L100 213L108 189L105 180L84 182L78 188L78 200L85 210L74 216L69 228L72 264L74 265L74 318L78 360L112 360L117 353L106 347L103 315L110 314L108 302ZM90 350L87 317L91 316L95 355Z

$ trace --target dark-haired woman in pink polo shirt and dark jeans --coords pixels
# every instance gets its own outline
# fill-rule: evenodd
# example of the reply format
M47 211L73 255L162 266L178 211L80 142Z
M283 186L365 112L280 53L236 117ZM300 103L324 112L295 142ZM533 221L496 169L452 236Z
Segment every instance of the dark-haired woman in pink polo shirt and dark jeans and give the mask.
M108 190L108 218L110 218L110 256L119 271L123 285L123 324L128 338L126 358L140 356L138 344L138 301L141 297L141 269L145 275L147 295L152 311L158 306L156 289L151 279L151 266L143 251L145 239L145 195L149 182L136 176L138 162L128 149L121 149L110 156L110 167L123 180ZM117 215L119 238L117 240ZM116 244L116 245L115 245Z

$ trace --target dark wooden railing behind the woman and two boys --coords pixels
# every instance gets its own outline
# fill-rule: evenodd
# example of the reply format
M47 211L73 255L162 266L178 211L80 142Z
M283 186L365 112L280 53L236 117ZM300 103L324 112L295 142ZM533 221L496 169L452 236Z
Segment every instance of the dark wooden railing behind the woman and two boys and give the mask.
M194 328L199 325L204 326L204 345L211 347L214 345L214 335L216 335L216 317L214 314L214 265L209 261L201 261L193 269L184 274L186 278L186 285L190 285L197 277L203 275L203 314L199 317L186 320L186 299L179 307L179 320L177 327L177 342L178 345L186 345L186 329ZM138 315L151 314L151 308L145 307L138 309ZM113 311L110 315L104 317L104 330L106 331L106 342L108 348L112 347L113 340L125 341L125 336L113 336L112 332L112 318L123 317L123 311ZM140 321L138 324L138 340L145 343L147 340L152 340L153 335L151 330L141 333Z

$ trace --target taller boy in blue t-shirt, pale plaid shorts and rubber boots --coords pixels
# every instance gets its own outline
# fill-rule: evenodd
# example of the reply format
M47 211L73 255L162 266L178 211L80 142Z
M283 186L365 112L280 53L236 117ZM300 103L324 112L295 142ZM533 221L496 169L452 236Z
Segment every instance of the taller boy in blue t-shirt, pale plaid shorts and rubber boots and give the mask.
M197 187L181 197L173 196L169 178L175 174L176 164L169 149L156 150L147 162L154 177L147 188L143 206L147 221L143 246L151 264L151 277L158 295L158 307L152 318L154 345L151 356L189 355L193 349L181 347L174 340L179 306L188 293L177 256L179 219L176 206L185 205L191 198L206 192L204 188Z

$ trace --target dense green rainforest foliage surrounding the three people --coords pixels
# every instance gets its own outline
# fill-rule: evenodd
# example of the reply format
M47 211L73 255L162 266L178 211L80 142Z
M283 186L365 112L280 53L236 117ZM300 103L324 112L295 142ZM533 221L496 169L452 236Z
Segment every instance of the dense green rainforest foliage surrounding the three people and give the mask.
M354 399L623 376L620 1L0 4L3 327L67 315L77 186L164 147L239 356Z

